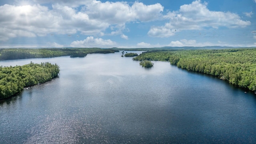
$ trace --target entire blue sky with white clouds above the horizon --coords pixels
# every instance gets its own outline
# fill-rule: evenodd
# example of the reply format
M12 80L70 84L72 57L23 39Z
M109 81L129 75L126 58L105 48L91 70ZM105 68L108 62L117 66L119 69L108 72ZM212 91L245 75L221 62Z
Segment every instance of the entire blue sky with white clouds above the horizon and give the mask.
M256 0L0 0L0 48L256 47Z

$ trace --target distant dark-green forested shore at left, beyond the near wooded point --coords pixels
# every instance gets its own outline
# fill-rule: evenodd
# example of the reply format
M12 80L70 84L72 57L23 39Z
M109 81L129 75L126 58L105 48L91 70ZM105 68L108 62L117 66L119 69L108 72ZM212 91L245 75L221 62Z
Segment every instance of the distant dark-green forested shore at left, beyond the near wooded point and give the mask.
M101 48L2 48L0 60L17 60L25 58L52 58L58 56L84 57L93 53L114 53L111 49Z

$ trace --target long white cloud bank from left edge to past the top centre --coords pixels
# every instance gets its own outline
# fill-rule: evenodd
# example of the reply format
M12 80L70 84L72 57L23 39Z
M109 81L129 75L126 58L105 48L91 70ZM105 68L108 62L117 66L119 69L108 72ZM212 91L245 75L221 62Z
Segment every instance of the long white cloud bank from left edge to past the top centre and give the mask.
M130 6L127 2L97 0L26 1L30 5L0 6L0 40L18 36L34 37L77 32L103 36L103 32L110 26L117 26L114 34L122 34L122 31L126 30L127 22L156 20L164 9L158 3L145 5L141 2L134 2ZM49 3L52 4L51 8L40 5Z

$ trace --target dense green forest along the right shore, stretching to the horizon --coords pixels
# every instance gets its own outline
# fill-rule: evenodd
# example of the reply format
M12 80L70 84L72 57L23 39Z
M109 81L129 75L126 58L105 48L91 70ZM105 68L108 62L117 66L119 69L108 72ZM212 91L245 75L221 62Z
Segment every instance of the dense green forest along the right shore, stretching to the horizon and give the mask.
M143 52L133 60L169 61L180 68L218 76L256 90L256 48Z

